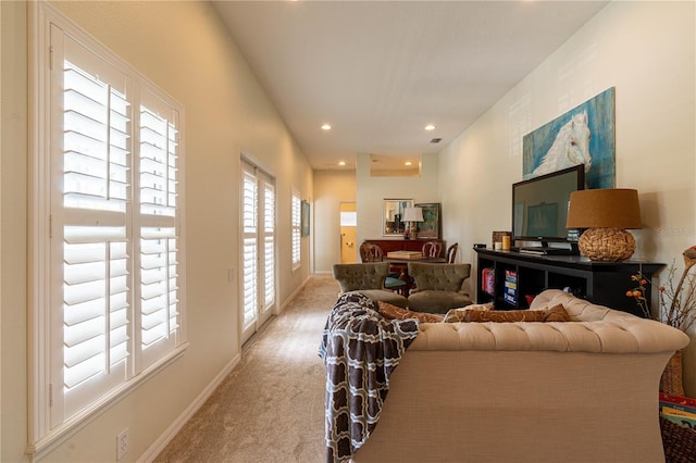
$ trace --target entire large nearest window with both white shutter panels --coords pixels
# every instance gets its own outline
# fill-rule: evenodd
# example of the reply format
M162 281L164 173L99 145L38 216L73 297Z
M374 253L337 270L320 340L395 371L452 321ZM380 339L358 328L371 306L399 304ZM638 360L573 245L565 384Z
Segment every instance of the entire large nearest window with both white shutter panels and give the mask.
M184 345L182 108L38 8L34 443Z

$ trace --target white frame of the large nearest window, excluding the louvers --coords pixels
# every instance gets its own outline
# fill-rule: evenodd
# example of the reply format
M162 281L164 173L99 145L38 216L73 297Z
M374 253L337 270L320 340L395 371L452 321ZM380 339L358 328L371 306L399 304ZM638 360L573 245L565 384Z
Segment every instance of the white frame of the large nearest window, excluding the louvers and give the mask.
M28 443L27 453L33 454L34 459L40 459L47 452L52 450L58 443L62 442L70 435L74 434L78 429L83 428L92 418L99 416L121 399L125 393L128 393L145 380L149 379L157 372L171 364L173 361L184 354L188 348L187 333L186 333L186 291L185 291L185 268L186 268L186 251L185 251L185 172L184 172L184 157L185 157L185 120L184 120L184 107L174 100L172 97L160 90L147 77L140 74L137 70L128 65L120 57L113 54L109 49L99 43L94 37L85 33L79 26L74 24L71 20L63 16L50 4L39 1L29 4L29 77L30 77L30 91L29 91L29 320L28 320L28 349L29 349L29 426L28 426ZM130 124L129 134L132 141L129 143L129 193L127 202L129 211L126 213L127 223L127 239L130 249L140 250L140 234L142 227L147 226L148 222L151 222L152 216L140 211L139 193L136 191L139 185L139 179L135 179L140 175L140 172L136 170L138 165L140 153L140 140L139 133L141 130L139 124L139 112L142 107L142 95L148 95L150 98L158 98L162 100L167 108L171 108L178 117L178 124L176 129L178 130L178 139L174 142L177 143L177 152L174 154L178 157L178 162L174 182L177 183L175 195L175 216L170 223L173 223L175 230L175 240L177 250L175 251L176 259L176 310L178 313L178 329L176 331L177 339L165 349L165 352L161 352L157 358L147 364L142 364L144 349L140 347L140 331L142 326L140 324L140 303L136 302L136 298L139 298L139 289L141 281L137 279L137 272L134 272L135 265L139 265L140 255L136 256L136 252L130 252L128 259L128 272L130 273L128 287L129 287L129 300L132 302L128 317L129 333L129 355L128 355L128 373L125 379L119 380L115 387L110 387L103 390L96 400L90 401L89 405L85 409L72 413L70 416L62 416L55 421L51 418L52 406L54 402L60 399L58 395L61 393L58 389L51 385L52 373L51 370L55 367L58 359L63 362L64 349L57 351L51 342L55 343L55 340L51 340L51 333L57 329L55 323L51 321L51 312L54 311L54 306L51 304L53 289L52 285L55 285L55 276L52 275L52 260L51 248L55 247L55 241L51 245L53 230L57 226L63 226L54 224L52 216L52 203L55 202L55 187L52 183L55 182L54 172L51 172L53 161L55 157L57 146L62 147L63 135L53 135L52 129L57 117L55 112L62 111L62 107L57 109L57 105L52 101L54 98L52 93L51 79L54 78L58 67L57 62L61 62L63 57L58 57L52 46L51 29L58 27L62 32L62 37L70 36L72 39L78 41L88 51L94 53L94 57L103 60L108 66L112 66L119 70L127 76L129 85L133 86L133 98L130 99ZM58 67L57 67L58 66ZM62 84L61 84L62 88ZM64 90L63 90L64 91ZM51 114L54 111L54 114ZM138 116L135 116L135 113ZM63 120L61 120L63 121ZM61 125L61 127L63 127ZM51 137L57 137L52 139ZM172 174L167 174L172 175ZM170 178L170 177L167 177ZM61 180L62 182L62 178ZM62 210L65 210L65 205L62 205ZM134 218L135 217L135 218ZM145 220L144 220L145 218ZM169 217L167 217L169 218ZM162 222L166 222L163 218ZM62 229L61 234L62 236ZM169 254L167 254L169 255ZM110 265L105 261L107 265ZM167 267L170 268L170 267ZM61 273L61 272L58 272ZM62 274L62 273L61 273ZM170 288L172 280L167 280L167 288ZM49 289L47 289L49 288ZM108 309L107 309L108 311ZM167 313L171 314L171 306ZM62 317L61 317L62 318ZM136 321L136 318L138 318ZM167 325L169 326L169 325ZM109 328L107 328L109 329ZM171 333L171 331L170 331ZM58 398L58 399L57 399ZM64 399L61 399L61 402ZM62 405L59 405L61 410ZM61 410L62 412L62 410ZM53 423L52 423L53 422Z

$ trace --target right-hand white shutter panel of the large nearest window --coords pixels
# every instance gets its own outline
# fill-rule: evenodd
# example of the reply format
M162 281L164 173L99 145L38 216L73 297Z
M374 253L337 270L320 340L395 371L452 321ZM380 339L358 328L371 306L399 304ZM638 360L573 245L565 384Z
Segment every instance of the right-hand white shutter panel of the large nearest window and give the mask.
M177 345L178 114L147 87L140 95L139 205L141 367Z

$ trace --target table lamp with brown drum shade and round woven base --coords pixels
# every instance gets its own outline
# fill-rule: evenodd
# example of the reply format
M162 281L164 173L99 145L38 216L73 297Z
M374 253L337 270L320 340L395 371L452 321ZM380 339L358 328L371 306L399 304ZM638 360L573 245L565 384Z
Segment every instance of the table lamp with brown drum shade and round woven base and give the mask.
M642 228L638 191L607 188L570 195L568 228L586 228L577 240L580 252L592 261L620 262L635 251L626 228Z

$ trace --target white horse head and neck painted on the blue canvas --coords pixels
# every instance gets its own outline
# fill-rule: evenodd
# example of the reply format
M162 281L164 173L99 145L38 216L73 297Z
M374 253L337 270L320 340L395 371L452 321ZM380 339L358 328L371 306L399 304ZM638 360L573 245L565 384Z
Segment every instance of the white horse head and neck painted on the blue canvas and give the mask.
M554 145L546 152L539 165L533 174L544 175L585 164L585 173L592 167L589 154L589 127L587 126L587 111L573 115L573 117L559 130Z

